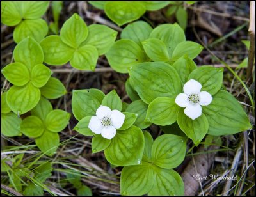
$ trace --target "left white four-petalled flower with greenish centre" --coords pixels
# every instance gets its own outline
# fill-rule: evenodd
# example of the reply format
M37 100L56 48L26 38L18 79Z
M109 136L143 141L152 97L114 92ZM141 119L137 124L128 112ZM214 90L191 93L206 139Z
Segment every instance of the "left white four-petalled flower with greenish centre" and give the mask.
M125 115L109 107L100 106L96 111L96 116L92 116L88 127L95 134L101 134L103 138L112 139L116 135L116 129L122 127Z

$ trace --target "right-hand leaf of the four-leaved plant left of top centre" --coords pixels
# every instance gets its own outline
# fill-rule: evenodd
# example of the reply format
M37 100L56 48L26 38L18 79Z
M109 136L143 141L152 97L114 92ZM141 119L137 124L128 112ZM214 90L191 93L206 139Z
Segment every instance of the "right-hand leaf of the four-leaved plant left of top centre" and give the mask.
M93 45L98 50L99 56L109 51L115 43L117 31L108 26L92 24L88 26L88 36L81 45Z

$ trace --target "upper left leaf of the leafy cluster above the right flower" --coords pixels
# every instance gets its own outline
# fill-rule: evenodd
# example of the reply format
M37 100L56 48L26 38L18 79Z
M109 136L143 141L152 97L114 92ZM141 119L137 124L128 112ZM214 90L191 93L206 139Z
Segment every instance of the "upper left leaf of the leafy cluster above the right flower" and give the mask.
M149 38L152 30L153 28L147 22L136 21L127 25L123 29L121 38L133 40L141 47L141 49L143 49L141 42Z

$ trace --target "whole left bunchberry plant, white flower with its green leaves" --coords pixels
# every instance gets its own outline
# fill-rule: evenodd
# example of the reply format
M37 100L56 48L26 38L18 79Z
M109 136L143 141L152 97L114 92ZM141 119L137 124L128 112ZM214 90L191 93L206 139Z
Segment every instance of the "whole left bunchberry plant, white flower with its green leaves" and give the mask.
M74 130L93 136L93 153L104 150L106 159L115 166L141 163L143 132L133 125L138 115L122 111L115 90L107 95L97 89L74 90L72 111L79 120Z

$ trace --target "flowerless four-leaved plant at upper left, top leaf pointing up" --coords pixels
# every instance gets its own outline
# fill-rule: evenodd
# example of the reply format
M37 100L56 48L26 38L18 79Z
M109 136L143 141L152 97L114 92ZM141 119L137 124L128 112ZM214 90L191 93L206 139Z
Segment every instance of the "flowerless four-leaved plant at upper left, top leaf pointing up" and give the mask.
M104 25L86 26L74 13L62 26L60 36L51 35L42 40L44 62L49 65L70 65L79 70L95 70L98 57L108 52L117 32Z

